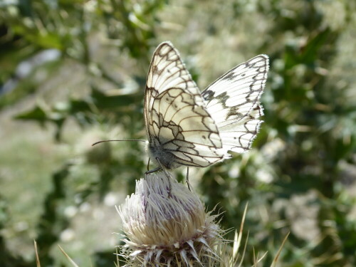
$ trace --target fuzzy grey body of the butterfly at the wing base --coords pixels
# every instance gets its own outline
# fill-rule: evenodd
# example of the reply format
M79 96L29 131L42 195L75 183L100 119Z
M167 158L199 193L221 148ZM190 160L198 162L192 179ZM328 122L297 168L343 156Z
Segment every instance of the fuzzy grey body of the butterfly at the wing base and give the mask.
M171 152L162 147L156 138L153 138L151 142L147 142L146 150L150 159L155 162L157 166L159 166L159 163L166 169L175 169L182 166L182 164L177 162L176 158ZM159 162L157 162L157 159Z

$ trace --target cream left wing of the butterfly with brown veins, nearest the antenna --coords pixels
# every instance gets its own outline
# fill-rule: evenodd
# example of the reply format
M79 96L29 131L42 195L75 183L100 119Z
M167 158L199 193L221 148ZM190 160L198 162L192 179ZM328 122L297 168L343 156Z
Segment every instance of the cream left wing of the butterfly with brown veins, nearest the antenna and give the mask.
M206 167L222 159L216 124L172 43L161 43L153 54L144 115L150 157L164 167Z

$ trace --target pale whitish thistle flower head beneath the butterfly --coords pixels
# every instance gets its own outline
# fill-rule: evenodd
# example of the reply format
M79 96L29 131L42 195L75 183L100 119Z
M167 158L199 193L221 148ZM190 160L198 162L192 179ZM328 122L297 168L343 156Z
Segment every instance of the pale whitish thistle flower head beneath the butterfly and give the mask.
M197 194L164 173L137 181L135 194L119 212L127 236L126 266L195 266L217 258L216 216L205 212Z

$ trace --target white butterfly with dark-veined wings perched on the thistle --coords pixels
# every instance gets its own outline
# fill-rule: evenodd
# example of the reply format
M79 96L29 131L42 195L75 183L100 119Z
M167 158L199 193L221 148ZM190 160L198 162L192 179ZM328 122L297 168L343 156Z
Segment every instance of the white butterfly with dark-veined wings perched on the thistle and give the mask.
M146 149L157 169L207 167L229 151L249 150L262 122L267 73L268 56L259 55L200 92L172 43L159 44L144 101Z

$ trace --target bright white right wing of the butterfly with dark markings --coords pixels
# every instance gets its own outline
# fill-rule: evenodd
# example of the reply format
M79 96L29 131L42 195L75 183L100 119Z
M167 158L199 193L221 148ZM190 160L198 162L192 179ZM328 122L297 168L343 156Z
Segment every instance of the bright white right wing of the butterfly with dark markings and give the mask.
M226 152L242 153L251 148L262 123L259 100L267 73L268 56L259 55L229 70L201 93Z

